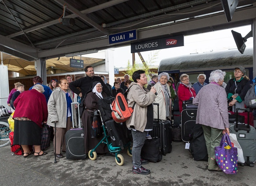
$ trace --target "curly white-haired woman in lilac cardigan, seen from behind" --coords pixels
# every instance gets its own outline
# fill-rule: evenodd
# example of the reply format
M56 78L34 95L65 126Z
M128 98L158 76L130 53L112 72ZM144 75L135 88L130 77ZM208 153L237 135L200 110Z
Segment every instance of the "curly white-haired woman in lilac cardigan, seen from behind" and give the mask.
M193 100L198 105L196 123L202 124L204 130L209 171L221 171L215 161L214 147L219 146L222 134L229 134L227 94L221 87L225 74L222 70L211 72L210 83Z

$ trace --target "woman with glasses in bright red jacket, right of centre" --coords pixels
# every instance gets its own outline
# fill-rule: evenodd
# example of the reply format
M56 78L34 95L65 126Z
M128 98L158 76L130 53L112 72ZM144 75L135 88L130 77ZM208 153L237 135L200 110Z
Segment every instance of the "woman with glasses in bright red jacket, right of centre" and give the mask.
M187 74L181 74L180 77L181 83L178 87L178 98L179 98L179 107L180 112L182 112L182 103L183 101L192 101L196 97L196 92L189 82Z

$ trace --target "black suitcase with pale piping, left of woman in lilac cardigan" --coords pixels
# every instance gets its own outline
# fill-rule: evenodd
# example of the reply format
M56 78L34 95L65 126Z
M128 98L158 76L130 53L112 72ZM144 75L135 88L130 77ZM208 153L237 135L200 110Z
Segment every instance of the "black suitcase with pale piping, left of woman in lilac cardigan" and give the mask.
M197 109L185 109L181 112L181 138L188 142L190 133L196 125Z

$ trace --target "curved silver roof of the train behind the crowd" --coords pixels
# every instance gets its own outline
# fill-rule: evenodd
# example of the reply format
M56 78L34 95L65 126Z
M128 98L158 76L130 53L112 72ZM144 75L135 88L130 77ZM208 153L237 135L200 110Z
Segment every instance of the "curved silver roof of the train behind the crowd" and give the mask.
M228 49L162 59L159 64L158 72L252 64L253 48L246 48L243 54L237 49Z

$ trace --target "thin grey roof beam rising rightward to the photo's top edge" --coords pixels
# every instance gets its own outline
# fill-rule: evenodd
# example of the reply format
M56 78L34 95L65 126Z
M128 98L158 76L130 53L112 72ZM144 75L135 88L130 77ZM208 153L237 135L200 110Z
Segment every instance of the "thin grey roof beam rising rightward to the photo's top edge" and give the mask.
M97 6L93 6L92 8L88 8L86 10L83 10L83 11L81 11L81 13L82 14L89 14L89 13L92 13L94 11L102 10L102 9L108 8L110 6L114 6L114 5L117 5L117 4L120 4L120 3L124 3L125 1L129 1L129 0L112 0L112 1L108 1L106 3L100 4L100 5L97 5ZM76 18L76 17L78 17L78 15L71 14L71 15L67 15L65 17L66 18ZM55 19L53 21L49 21L47 23L44 23L44 24L41 24L41 25L38 25L38 26L34 26L32 28L25 29L24 32L25 33L29 33L29 32L32 32L32 31L35 31L35 30L39 30L39 29L45 28L47 26L55 25L55 24L58 24L58 23L59 23L59 19ZM16 37L16 36L19 36L19 35L22 35L22 34L24 34L24 33L22 31L19 31L19 32L14 33L14 34L10 34L7 37L8 38L13 38L13 37Z

